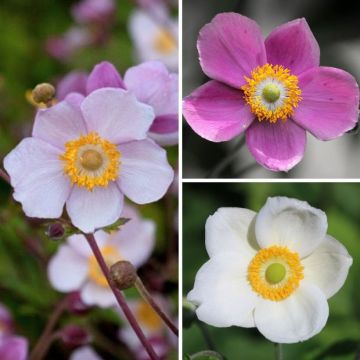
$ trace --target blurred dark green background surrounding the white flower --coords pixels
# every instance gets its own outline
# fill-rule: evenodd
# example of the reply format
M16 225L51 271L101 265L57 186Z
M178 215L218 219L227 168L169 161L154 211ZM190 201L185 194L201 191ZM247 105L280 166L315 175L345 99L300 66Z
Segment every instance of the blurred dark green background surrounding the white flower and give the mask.
M244 207L259 211L269 196L297 198L325 211L328 233L342 242L354 259L344 287L329 300L330 316L326 327L306 342L284 345L284 359L359 359L360 184L184 183L184 296L192 289L196 272L208 260L205 250L207 217L219 207ZM263 338L256 329L206 328L216 350L228 360L275 358L274 344ZM208 349L196 321L184 328L183 341L184 354Z

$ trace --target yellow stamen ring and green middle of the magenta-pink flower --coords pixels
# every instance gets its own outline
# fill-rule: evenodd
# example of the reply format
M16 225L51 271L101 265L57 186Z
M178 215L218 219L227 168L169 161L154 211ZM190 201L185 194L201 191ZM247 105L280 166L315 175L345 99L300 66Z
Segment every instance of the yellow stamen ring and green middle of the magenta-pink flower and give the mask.
M297 76L281 65L258 66L245 80L241 87L245 101L259 121L286 121L301 101Z

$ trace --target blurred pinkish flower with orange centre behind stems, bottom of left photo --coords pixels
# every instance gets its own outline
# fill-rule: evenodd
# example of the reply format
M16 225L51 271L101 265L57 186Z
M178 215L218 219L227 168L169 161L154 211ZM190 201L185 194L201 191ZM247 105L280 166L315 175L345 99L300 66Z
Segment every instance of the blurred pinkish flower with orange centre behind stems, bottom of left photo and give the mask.
M170 312L170 303L167 299L160 294L155 294L153 297L164 312ZM143 299L129 300L128 305L155 352L160 358L163 358L174 347L170 331L159 315ZM136 355L136 359L147 359L139 339L129 325L124 325L120 329L119 336Z

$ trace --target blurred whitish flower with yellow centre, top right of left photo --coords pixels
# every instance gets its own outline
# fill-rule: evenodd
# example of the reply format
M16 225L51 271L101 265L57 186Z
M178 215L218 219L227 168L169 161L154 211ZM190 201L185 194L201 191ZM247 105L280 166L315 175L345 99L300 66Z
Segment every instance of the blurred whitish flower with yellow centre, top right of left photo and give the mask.
M167 12L135 10L129 32L139 62L160 60L170 70L178 70L178 23Z

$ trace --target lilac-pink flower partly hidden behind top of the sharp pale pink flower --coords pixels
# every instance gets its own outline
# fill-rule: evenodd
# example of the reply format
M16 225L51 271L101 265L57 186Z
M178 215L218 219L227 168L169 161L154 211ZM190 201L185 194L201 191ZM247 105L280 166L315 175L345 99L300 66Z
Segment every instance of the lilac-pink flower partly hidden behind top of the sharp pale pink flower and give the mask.
M129 68L121 78L115 66L107 61L92 72L72 72L57 86L62 100L72 93L90 94L96 89L112 87L131 91L136 99L150 105L155 113L149 136L160 145L178 143L178 75L169 73L159 61L149 61Z

